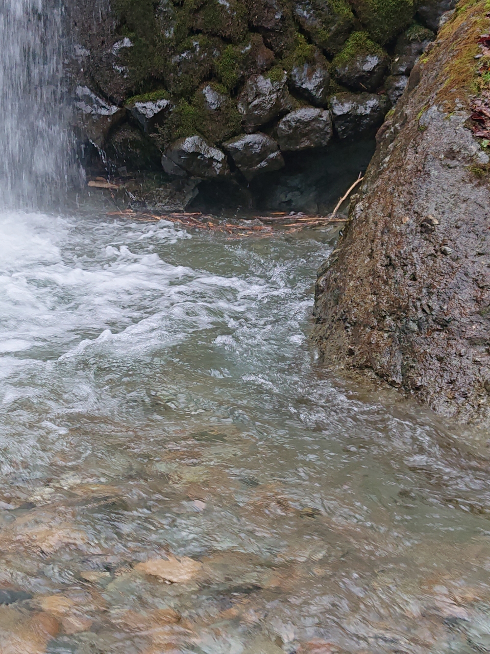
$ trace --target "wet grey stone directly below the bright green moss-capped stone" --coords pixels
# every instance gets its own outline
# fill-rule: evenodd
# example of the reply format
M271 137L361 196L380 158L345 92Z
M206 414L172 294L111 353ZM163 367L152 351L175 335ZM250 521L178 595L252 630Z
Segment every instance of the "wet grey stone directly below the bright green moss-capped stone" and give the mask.
M333 124L340 139L378 128L388 109L387 95L338 93L330 99Z

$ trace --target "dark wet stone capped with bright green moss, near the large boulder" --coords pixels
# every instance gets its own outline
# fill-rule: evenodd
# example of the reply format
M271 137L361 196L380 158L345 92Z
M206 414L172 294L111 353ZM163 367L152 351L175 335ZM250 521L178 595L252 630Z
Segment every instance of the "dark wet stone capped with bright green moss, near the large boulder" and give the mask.
M374 91L383 81L389 56L366 32L353 32L332 61L335 76L357 91Z

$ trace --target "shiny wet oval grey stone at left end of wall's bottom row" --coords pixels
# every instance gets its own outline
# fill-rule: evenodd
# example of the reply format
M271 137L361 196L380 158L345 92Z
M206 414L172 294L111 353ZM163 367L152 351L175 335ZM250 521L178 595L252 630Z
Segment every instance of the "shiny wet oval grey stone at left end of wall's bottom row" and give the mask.
M201 136L178 139L167 149L165 156L194 177L206 179L229 175L225 154Z

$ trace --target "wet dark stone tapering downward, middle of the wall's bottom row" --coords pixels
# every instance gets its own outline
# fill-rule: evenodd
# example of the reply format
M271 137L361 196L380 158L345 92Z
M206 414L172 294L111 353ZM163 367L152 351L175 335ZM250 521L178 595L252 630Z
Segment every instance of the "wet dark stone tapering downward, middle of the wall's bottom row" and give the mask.
M250 181L257 173L279 170L284 159L274 139L257 132L244 134L223 144L240 173Z

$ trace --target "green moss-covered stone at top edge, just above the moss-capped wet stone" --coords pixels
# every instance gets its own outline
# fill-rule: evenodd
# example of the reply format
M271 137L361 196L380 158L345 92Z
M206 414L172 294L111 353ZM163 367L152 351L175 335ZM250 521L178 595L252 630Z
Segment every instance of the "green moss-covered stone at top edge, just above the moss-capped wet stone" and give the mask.
M374 41L384 45L406 27L416 12L414 0L351 0Z

